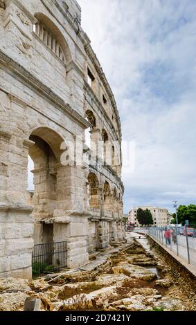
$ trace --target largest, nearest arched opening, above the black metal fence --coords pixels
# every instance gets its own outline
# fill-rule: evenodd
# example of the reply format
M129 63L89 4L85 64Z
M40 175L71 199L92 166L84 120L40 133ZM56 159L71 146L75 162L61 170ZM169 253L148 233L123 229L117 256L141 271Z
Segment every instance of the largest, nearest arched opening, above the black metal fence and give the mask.
M28 171L28 180L33 188L34 243L53 242L53 223L51 218L57 205L57 168L60 165L63 139L55 131L46 127L35 129L29 137L32 145L28 167L33 167L33 179ZM32 168L31 168L32 170ZM33 180L33 185L32 185Z

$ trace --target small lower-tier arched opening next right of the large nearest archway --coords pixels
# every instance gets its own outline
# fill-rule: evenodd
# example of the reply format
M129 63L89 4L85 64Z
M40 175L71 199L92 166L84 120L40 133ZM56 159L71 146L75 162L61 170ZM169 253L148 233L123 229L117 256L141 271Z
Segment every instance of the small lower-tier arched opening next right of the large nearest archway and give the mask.
M100 207L100 190L96 174L90 173L88 176L89 183L89 207Z

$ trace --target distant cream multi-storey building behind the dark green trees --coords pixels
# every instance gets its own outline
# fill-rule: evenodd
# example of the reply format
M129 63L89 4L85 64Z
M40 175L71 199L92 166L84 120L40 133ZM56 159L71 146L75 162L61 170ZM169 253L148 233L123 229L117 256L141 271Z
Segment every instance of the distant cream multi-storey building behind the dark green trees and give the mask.
M130 223L134 223L136 227L139 227L140 224L136 219L136 213L137 210L141 208L142 210L150 210L152 213L152 219L154 221L154 225L168 225L169 223L169 218L168 218L168 209L164 207L134 207L129 213L128 213L128 221Z

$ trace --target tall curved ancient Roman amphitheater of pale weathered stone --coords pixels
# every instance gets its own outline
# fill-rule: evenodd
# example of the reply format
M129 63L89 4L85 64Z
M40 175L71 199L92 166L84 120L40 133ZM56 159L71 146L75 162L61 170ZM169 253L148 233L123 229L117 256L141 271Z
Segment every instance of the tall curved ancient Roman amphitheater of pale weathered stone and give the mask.
M121 123L80 20L75 0L0 0L1 277L31 278L35 244L75 268L124 238Z

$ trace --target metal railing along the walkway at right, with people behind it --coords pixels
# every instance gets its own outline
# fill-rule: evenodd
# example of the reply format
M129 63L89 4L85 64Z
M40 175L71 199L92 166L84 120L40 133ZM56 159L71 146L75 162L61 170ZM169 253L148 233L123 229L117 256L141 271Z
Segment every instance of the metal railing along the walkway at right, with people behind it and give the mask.
M135 228L134 232L148 234L152 239L155 239L161 245L169 248L171 252L181 257L181 259L196 266L196 238L187 236L187 233L179 234L179 230L175 227L170 228L168 234L166 234L165 227Z

